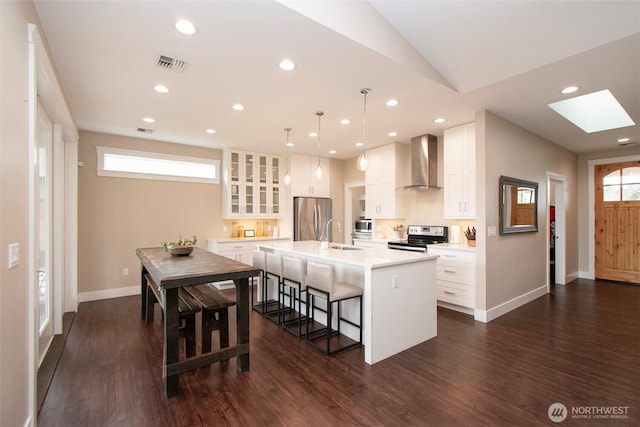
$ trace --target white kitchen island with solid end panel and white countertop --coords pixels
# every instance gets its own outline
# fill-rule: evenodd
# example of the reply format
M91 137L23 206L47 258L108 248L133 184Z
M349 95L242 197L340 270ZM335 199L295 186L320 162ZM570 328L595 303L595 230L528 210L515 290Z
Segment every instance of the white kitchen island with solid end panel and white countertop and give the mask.
M336 280L363 288L367 363L374 364L436 336L436 255L332 246L320 249L317 241L258 243L258 249L265 252L331 264ZM343 304L343 314L357 322L357 303ZM358 339L355 328L344 327L342 333Z

